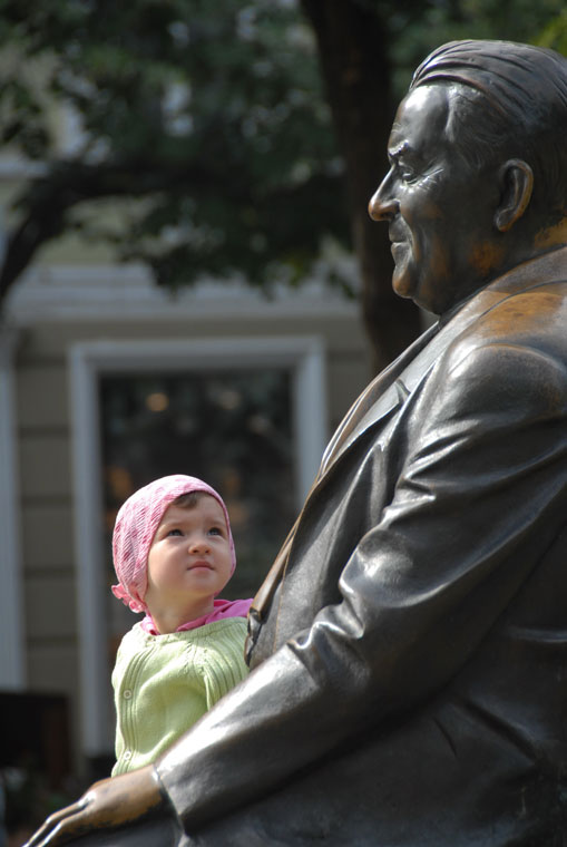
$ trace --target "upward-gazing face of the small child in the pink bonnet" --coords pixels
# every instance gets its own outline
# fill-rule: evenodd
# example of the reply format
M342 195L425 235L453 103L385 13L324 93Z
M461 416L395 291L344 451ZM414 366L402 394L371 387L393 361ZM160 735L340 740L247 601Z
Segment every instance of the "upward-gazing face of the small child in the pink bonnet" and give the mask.
M172 504L156 530L148 556L145 602L151 616L195 605L206 614L232 573L223 509L203 494L192 507ZM201 616L198 613L196 616ZM187 620L192 620L188 617Z

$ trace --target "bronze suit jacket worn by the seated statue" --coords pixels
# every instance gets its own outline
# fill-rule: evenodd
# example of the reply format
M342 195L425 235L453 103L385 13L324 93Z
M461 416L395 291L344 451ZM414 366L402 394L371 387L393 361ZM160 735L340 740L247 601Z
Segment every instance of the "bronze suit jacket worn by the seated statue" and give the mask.
M567 844L567 250L341 425L247 680L157 765L184 845Z

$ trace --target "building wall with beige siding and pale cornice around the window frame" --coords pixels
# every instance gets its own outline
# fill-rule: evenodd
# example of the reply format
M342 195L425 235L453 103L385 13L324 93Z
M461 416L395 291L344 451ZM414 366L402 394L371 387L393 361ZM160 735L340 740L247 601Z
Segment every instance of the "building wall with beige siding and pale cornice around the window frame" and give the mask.
M96 282L97 273L100 274ZM369 380L358 306L316 286L267 301L205 285L172 300L137 271L37 269L10 302L21 526L26 688L69 697L85 767L69 352L78 342L310 335L321 340L332 432ZM80 544L80 539L78 539ZM88 670L88 669L87 669Z

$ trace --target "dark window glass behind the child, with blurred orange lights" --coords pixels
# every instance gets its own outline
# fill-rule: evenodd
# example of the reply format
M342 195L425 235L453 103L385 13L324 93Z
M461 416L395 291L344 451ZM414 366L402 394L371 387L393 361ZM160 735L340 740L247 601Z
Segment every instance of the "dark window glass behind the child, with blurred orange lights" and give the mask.
M111 532L133 491L166 474L188 474L223 496L237 567L223 596L253 596L294 515L291 374L277 370L102 376L107 584L116 582ZM110 660L131 612L107 596Z

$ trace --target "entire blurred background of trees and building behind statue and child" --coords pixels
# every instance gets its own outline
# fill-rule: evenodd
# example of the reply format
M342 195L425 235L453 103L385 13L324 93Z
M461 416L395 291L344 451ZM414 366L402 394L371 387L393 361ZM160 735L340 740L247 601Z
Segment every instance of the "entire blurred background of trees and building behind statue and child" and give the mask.
M225 498L252 596L369 379L430 317L368 201L454 38L563 0L0 2L0 847L113 763L117 508Z

